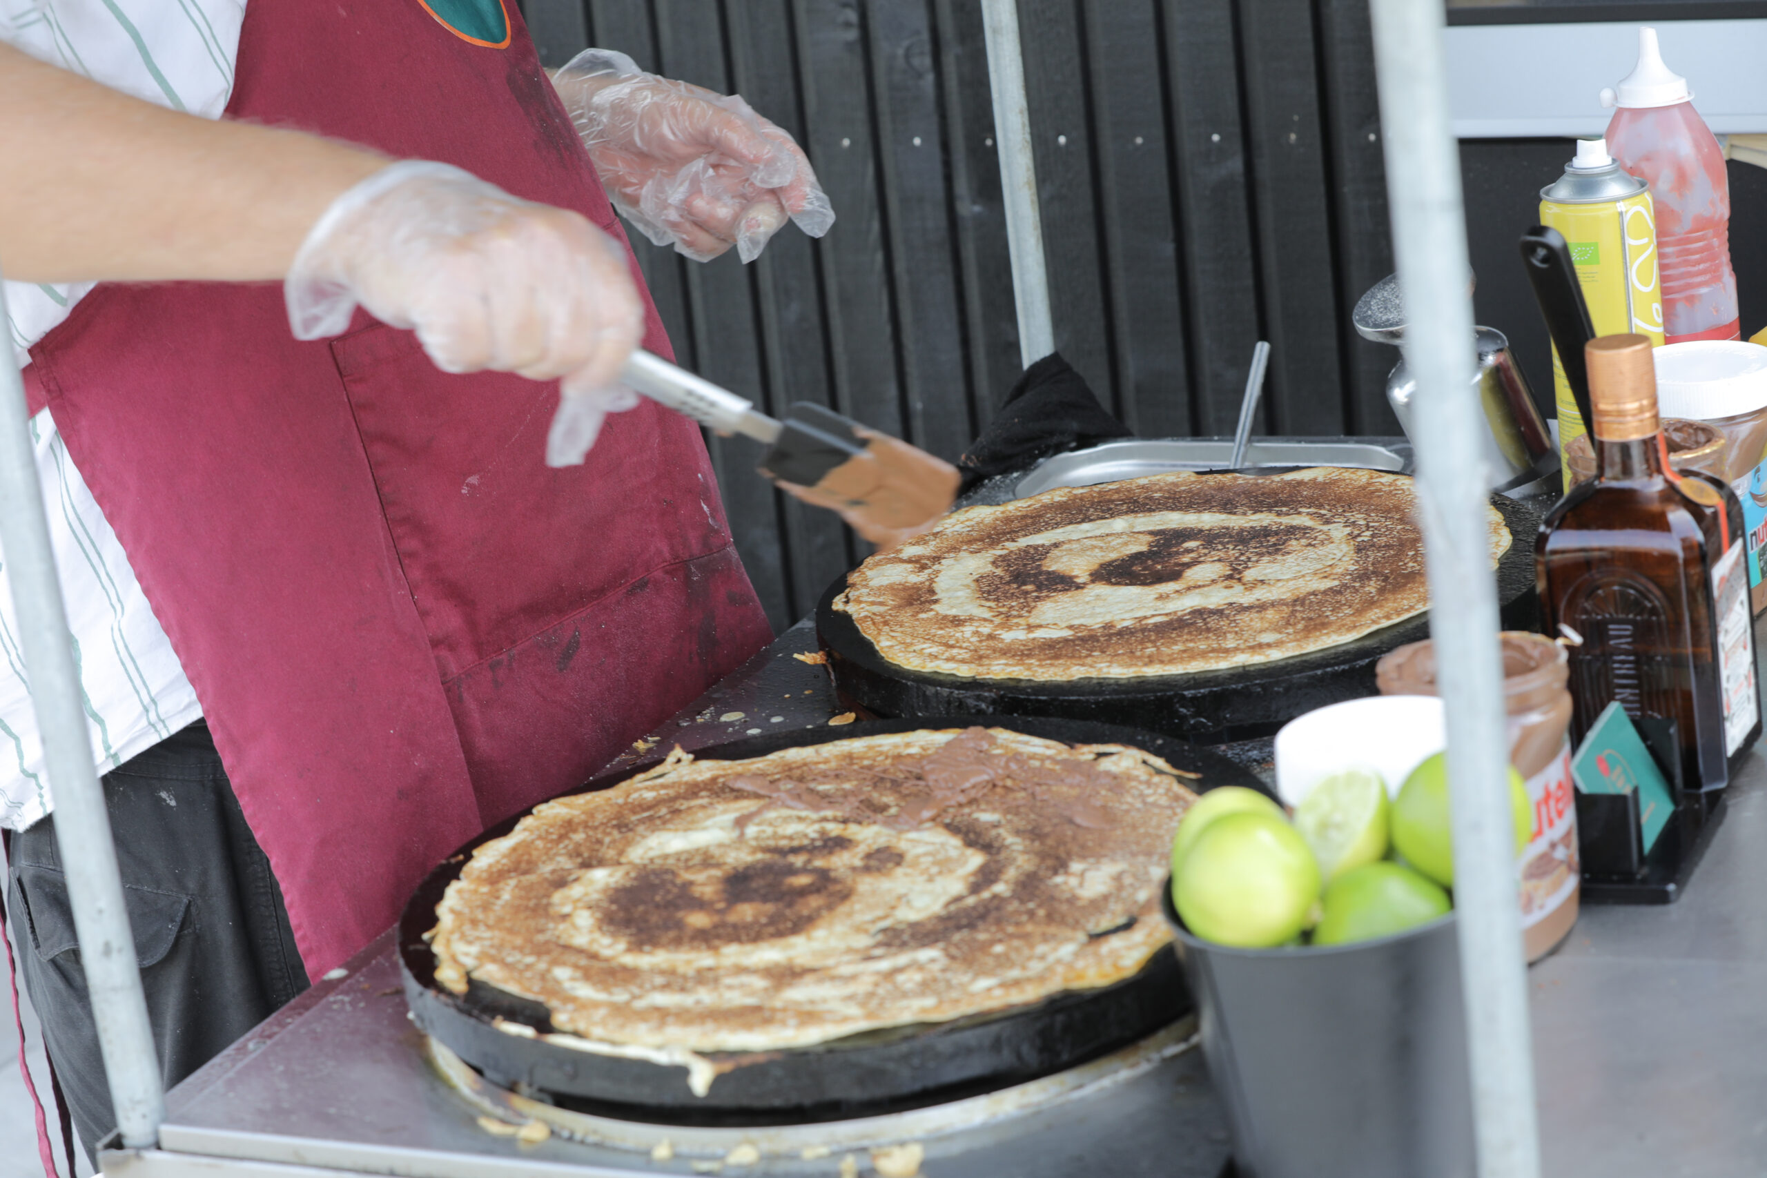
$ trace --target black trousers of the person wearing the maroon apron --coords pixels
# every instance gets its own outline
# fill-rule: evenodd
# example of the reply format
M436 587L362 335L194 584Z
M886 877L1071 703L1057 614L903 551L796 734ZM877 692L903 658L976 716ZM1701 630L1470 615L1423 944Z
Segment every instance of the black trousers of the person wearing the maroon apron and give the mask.
M104 802L170 1088L304 991L307 975L270 860L240 814L207 724L106 774ZM12 835L9 908L25 991L74 1129L94 1153L117 1118L53 823Z

